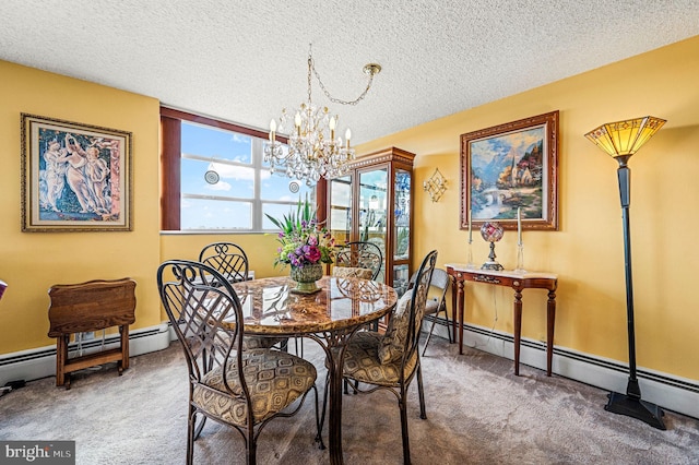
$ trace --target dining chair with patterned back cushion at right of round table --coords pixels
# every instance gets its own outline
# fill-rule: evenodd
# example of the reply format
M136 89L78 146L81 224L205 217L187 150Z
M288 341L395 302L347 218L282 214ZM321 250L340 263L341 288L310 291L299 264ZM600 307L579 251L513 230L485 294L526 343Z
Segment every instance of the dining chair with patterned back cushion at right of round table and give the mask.
M404 464L411 463L407 390L414 378L417 378L419 416L427 418L418 343L436 261L436 250L425 257L417 271L415 285L399 299L386 334L376 331L355 333L347 343L343 361L343 375L356 393L388 390L398 398Z

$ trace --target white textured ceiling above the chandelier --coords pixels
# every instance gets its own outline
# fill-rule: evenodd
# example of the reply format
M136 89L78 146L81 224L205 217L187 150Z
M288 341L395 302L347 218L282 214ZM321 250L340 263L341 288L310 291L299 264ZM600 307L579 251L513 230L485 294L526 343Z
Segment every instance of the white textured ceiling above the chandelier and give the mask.
M697 0L2 0L0 59L266 130L309 44L354 143L699 34ZM0 76L1 78L1 76ZM12 85L0 81L3 86Z

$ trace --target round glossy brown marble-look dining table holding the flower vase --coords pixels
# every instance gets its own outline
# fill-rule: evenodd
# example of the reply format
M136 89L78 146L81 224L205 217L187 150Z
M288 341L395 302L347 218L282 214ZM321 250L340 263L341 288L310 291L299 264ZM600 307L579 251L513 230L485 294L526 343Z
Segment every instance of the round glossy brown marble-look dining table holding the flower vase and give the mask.
M323 276L318 290L296 294L291 277L235 283L245 333L270 337L307 337L325 353L328 369L328 449L330 463L342 456L342 380L347 341L359 329L389 313L398 301L392 287L356 277Z

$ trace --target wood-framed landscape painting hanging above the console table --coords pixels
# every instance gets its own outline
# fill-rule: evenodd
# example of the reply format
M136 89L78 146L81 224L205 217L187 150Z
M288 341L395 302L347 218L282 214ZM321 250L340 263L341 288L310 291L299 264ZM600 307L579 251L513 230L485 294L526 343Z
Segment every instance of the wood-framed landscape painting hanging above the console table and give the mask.
M461 229L558 229L558 111L461 135Z

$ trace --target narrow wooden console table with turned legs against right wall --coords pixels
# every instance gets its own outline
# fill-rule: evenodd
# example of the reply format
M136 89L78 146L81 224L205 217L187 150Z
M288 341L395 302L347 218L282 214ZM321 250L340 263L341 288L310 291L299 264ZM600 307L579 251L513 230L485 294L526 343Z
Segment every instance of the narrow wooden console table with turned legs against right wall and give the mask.
M459 354L463 354L463 286L466 281L474 283L508 286L514 289L513 325L514 325L514 374L520 374L520 341L522 332L522 290L546 289L546 374L550 377L554 356L554 322L556 320L556 288L558 276L550 273L514 273L513 271L490 271L469 267L460 263L447 263L447 273L451 277L451 303L454 317L458 318ZM454 327L455 331L455 327ZM454 334L454 337L457 334Z

